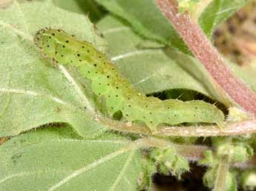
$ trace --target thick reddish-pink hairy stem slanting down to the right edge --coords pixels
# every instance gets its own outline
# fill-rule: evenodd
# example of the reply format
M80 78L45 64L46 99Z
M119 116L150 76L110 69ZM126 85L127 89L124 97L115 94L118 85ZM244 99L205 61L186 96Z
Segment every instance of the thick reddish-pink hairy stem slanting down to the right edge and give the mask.
M256 115L256 94L226 66L220 53L206 37L200 25L186 13L179 13L174 0L156 0L194 56L206 67L227 96L249 113Z

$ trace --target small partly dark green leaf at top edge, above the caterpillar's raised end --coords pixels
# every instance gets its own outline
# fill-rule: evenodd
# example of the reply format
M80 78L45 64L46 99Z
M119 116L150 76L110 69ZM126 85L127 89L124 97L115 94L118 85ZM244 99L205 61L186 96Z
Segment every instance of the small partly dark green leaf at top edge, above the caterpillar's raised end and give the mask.
M65 10L88 14L91 21L98 21L104 15L94 0L53 0L53 2Z

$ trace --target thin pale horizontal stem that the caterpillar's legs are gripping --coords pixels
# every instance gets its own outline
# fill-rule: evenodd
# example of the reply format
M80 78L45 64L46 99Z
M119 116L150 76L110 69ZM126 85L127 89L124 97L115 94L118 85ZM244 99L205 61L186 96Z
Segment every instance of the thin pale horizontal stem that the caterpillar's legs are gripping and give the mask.
M138 124L125 124L120 121L114 121L110 118L96 119L101 124L108 127L109 130L117 130L122 133L136 133L140 135L152 135L148 127ZM240 121L235 123L227 123L225 127L220 129L217 125L199 125L199 126L172 126L160 127L154 136L158 137L210 137L210 136L228 136L228 135L247 135L256 133L256 120Z

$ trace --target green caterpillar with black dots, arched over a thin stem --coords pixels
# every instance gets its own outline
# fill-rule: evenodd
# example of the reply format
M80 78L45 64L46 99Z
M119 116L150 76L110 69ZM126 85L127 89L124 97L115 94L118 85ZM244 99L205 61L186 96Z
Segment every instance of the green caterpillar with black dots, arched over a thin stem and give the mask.
M142 121L156 132L159 124L216 123L223 126L224 115L205 101L165 100L147 97L121 76L114 64L87 41L79 41L63 30L42 29L35 44L55 64L76 67L91 80L96 95L104 96L108 113L121 111L128 121Z

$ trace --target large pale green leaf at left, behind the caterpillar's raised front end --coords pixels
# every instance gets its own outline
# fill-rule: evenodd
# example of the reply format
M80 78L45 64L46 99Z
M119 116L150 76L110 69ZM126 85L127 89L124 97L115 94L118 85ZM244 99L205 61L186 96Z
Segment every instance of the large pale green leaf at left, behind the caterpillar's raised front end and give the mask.
M0 136L53 122L70 124L79 135L102 133L105 128L93 121L93 104L84 94L85 80L39 56L33 36L43 27L62 28L102 46L87 17L51 1L13 1L0 10Z

